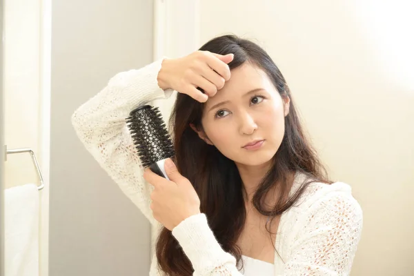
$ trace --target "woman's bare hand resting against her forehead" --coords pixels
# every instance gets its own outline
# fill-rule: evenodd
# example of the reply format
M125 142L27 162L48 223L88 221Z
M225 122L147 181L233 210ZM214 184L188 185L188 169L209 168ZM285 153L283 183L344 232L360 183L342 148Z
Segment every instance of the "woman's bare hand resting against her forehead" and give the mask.
M198 50L179 59L164 59L157 77L159 87L172 88L204 103L230 79L228 63L233 57Z

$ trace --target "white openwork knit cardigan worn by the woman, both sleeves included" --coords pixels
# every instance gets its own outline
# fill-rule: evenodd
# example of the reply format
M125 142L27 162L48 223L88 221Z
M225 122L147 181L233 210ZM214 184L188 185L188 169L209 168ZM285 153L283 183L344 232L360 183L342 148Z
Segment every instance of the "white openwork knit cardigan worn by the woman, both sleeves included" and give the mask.
M118 73L72 115L83 145L156 227L160 225L150 209L153 187L142 177L125 119L137 106L170 97L172 90L164 91L157 83L161 61ZM290 193L303 181L303 175L297 174ZM279 222L275 246L283 261L275 254L275 275L349 275L361 231L362 209L350 186L311 184ZM182 221L172 235L193 264L193 275L242 275L235 257L221 249L203 213ZM164 273L157 269L154 256L150 276L156 275Z

